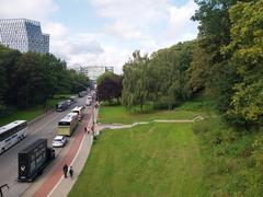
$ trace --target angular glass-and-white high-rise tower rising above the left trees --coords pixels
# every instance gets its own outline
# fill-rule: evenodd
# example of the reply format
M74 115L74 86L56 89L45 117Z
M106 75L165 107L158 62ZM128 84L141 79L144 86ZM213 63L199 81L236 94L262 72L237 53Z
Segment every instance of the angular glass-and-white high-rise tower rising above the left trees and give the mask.
M37 21L3 19L0 20L0 44L22 53L48 53L49 35L42 33Z

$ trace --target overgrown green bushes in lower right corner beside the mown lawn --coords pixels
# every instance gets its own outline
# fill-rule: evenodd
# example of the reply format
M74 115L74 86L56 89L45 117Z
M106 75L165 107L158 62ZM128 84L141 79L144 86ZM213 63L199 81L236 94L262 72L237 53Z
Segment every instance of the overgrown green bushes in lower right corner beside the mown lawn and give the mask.
M229 127L221 118L194 124L206 171L204 196L263 194L263 136Z

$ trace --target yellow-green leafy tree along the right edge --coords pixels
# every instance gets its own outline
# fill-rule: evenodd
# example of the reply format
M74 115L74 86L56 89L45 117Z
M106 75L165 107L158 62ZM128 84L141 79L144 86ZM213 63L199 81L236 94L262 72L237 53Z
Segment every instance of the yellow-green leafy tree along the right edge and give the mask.
M235 84L229 113L263 123L263 0L239 2L229 11L231 43L224 48L240 80Z

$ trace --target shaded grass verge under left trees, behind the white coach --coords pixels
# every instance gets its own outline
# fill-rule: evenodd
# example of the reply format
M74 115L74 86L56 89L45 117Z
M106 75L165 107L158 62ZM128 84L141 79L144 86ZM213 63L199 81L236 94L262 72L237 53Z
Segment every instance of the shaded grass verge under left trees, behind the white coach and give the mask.
M33 107L30 109L14 111L12 114L0 118L0 126L7 125L11 121L19 120L19 119L31 120L31 119L34 119L35 117L42 115L44 112L45 111L42 106Z

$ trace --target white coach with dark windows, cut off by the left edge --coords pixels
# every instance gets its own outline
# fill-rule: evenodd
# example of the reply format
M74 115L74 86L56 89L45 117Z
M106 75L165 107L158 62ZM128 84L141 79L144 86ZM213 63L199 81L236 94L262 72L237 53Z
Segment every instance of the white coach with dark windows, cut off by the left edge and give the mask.
M15 120L0 127L0 154L26 137L27 121Z

